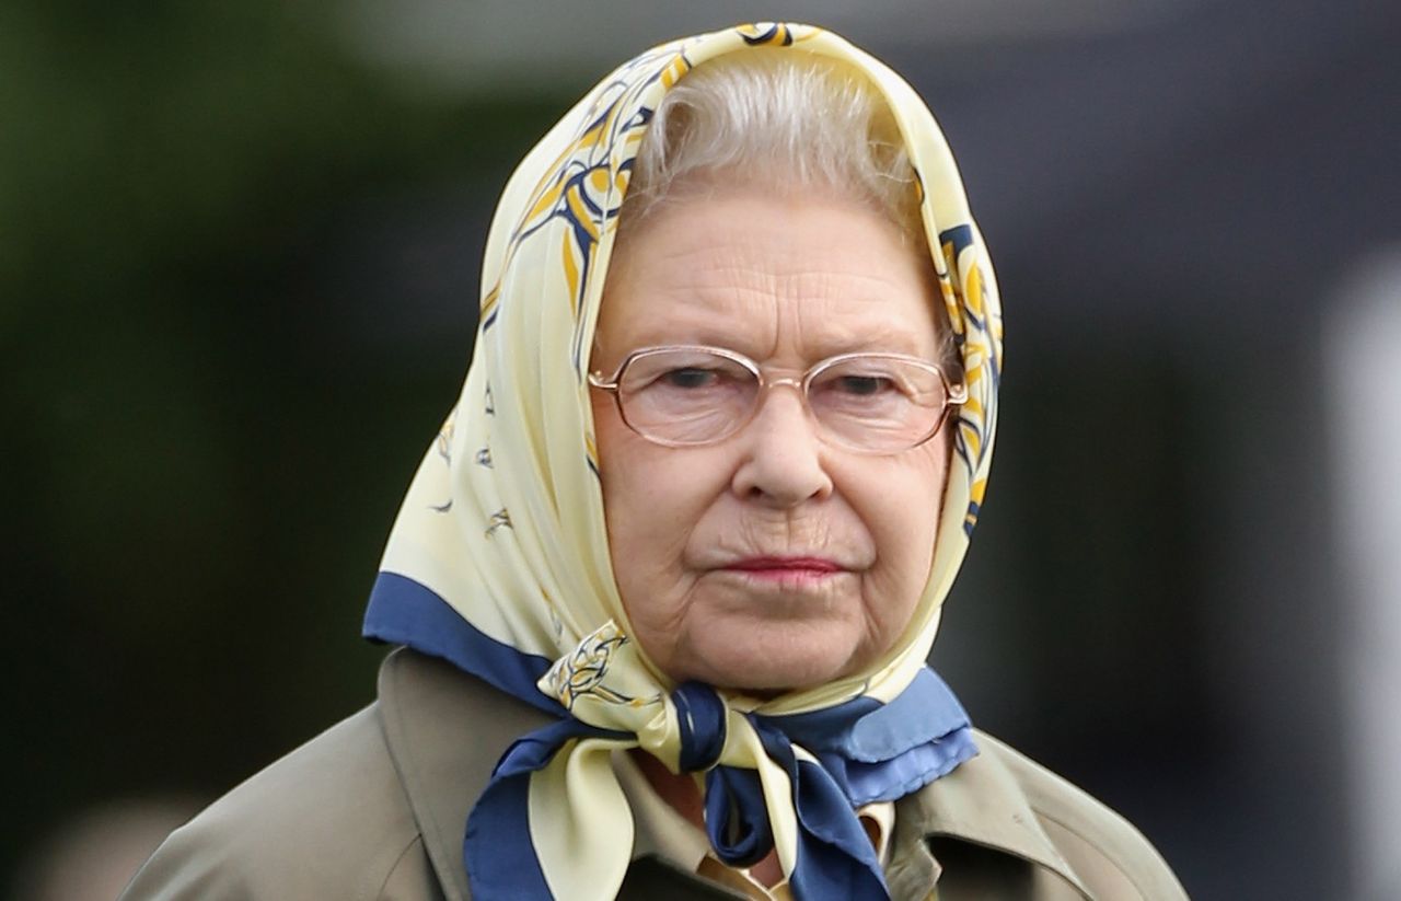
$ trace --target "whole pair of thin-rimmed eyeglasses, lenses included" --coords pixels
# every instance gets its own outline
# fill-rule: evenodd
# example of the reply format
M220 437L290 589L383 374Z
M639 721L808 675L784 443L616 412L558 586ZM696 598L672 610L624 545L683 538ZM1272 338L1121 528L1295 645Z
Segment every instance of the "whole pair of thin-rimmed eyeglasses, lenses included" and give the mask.
M612 376L590 373L588 384L612 392L629 429L665 447L723 441L778 385L797 390L824 440L867 454L919 447L968 399L939 366L899 353L843 353L801 378L765 378L733 350L668 345L635 350Z

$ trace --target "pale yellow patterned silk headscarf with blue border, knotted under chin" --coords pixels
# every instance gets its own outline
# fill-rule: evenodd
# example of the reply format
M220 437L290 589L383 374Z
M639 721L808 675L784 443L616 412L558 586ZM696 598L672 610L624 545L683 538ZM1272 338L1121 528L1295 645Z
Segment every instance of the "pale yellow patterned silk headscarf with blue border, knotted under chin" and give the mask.
M692 67L757 46L843 60L890 105L969 395L909 626L867 670L771 701L677 685L629 636L586 380L616 216L651 111ZM633 820L609 761L636 747L672 772L705 773L706 830L723 862L745 866L776 849L797 898L887 895L855 807L901 797L975 752L967 716L925 659L992 455L996 297L929 109L883 63L818 28L743 25L647 50L530 151L488 237L467 383L394 524L364 628L558 717L511 745L468 818L474 897L614 897Z

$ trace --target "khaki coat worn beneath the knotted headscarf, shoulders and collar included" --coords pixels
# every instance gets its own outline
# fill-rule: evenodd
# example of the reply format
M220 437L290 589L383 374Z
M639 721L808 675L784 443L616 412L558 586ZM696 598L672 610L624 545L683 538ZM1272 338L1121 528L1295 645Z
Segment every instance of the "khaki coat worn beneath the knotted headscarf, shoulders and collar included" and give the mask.
M378 699L177 830L120 901L467 900L462 835L492 768L546 715L441 660L399 649ZM1174 901L1182 887L1119 816L991 736L895 804L898 900ZM633 859L619 898L734 898Z

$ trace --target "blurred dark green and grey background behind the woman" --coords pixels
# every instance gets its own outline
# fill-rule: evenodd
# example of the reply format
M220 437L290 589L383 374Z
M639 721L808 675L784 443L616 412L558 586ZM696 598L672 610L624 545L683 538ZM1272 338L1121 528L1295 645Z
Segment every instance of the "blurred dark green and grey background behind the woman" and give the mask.
M1401 891L1349 802L1376 773L1345 750L1366 618L1323 328L1401 237L1401 17L764 13L925 92L999 263L999 460L934 652L975 722L1194 897ZM0 8L0 887L39 897L91 811L178 821L373 698L363 601L467 367L496 192L608 67L752 15Z

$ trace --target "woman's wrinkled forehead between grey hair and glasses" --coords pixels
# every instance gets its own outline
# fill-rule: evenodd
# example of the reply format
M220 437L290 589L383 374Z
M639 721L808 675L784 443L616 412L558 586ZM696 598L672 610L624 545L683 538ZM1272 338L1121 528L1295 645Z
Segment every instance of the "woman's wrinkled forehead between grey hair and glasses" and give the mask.
M869 206L736 189L656 209L619 240L595 356L706 343L761 362L855 350L933 359L934 297L923 242Z

